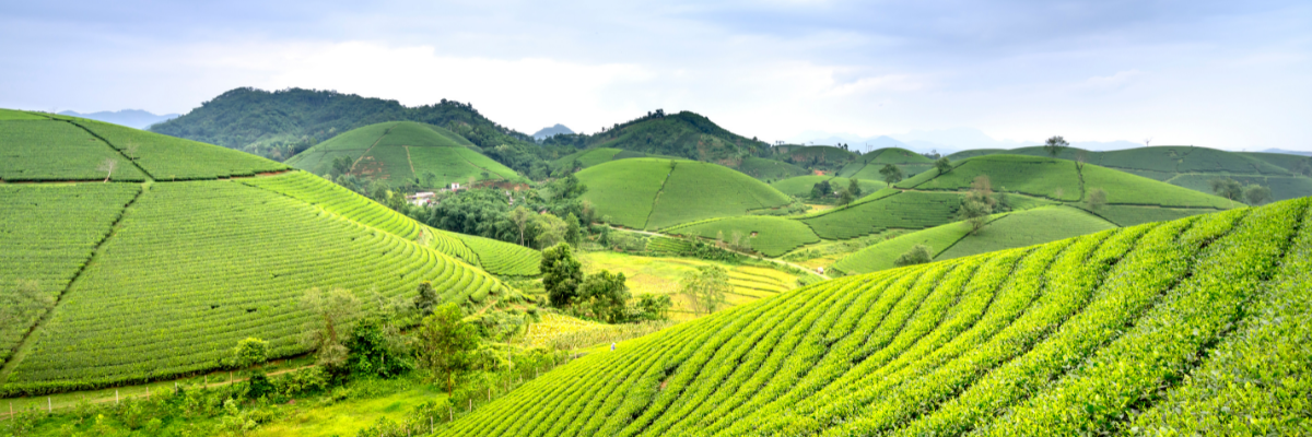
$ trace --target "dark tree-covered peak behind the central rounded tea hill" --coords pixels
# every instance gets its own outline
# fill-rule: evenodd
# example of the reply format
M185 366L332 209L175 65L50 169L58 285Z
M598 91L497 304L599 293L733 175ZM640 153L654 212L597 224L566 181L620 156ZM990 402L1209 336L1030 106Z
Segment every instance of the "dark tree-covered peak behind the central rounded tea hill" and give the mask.
M593 135L558 135L543 144L619 148L735 168L749 156L762 155L768 147L764 142L733 134L708 118L686 110L677 114L656 110Z

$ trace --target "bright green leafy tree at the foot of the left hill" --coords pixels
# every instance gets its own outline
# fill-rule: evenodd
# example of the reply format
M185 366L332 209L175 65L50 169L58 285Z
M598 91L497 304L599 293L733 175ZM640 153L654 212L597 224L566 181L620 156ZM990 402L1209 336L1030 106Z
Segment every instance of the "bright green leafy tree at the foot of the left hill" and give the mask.
M446 395L455 391L457 374L470 369L472 352L479 348L479 328L464 322L464 312L455 303L445 303L420 323L417 354L420 364L445 375Z

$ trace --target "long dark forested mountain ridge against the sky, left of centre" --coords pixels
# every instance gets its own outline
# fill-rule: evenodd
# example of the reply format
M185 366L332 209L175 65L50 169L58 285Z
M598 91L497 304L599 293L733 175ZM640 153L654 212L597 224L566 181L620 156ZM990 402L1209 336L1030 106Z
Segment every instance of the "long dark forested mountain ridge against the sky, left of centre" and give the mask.
M151 130L285 160L337 134L387 121L441 126L483 148L533 142L483 117L470 104L443 98L407 108L395 100L302 88L236 88Z

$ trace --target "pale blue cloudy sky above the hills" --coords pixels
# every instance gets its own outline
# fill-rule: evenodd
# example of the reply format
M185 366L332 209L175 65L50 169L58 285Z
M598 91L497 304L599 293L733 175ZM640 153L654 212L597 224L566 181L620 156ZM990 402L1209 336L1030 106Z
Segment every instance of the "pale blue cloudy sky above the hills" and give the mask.
M0 108L298 87L529 134L664 109L770 142L1312 150L1305 0L0 1Z

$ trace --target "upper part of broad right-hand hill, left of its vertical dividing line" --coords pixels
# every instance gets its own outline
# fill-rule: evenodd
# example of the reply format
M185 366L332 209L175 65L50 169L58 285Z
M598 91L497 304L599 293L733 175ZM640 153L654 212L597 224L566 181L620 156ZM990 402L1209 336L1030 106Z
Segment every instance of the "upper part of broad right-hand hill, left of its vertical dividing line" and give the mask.
M966 190L988 176L994 192L1023 193L1057 201L1080 199L1080 175L1072 161L1018 155L980 156L955 163L953 171L928 181L911 178L899 188Z

